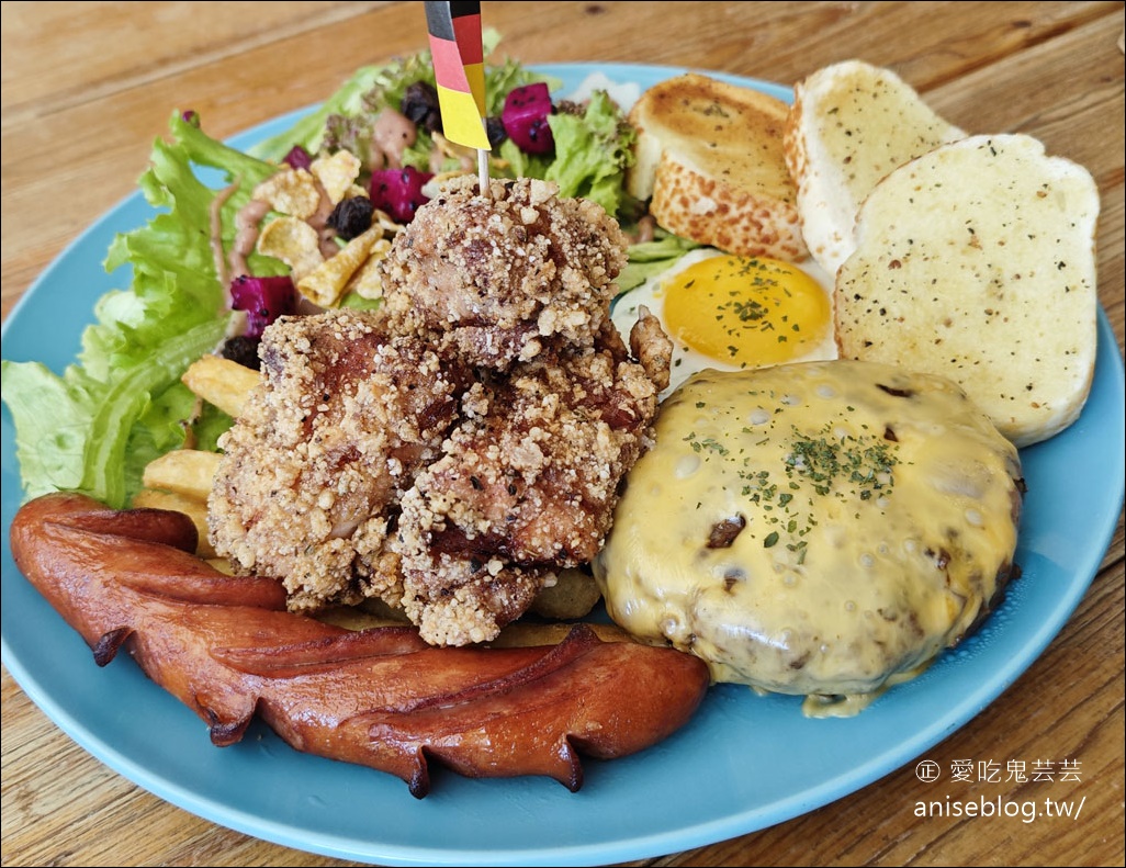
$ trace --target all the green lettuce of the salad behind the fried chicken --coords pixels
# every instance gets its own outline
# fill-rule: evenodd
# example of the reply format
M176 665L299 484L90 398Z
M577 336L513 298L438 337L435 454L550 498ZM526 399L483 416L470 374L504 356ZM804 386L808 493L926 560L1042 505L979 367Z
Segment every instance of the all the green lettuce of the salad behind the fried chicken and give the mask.
M497 42L495 33L485 34L486 55ZM61 376L39 363L3 360L0 366L0 391L15 422L26 499L55 490L81 491L122 508L141 490L143 468L153 458L184 446L216 448L232 420L209 405L200 409L180 383L184 370L215 351L231 326L226 287L212 247L213 208L218 208L229 248L239 209L295 144L315 154L332 136L363 140L374 115L397 106L405 89L420 80L434 83L429 52L365 66L318 110L249 153L213 140L194 113L173 114L168 141L154 142L151 165L140 179L158 213L146 225L119 234L105 260L108 272L131 270L131 286L99 299L82 350ZM512 88L538 81L558 84L516 61L488 65L488 113L498 115ZM555 181L564 196L591 198L626 223L625 211L633 203L626 200L623 181L633 131L622 111L596 91L584 108L557 111L549 124L554 158L524 154L506 142L493 161L494 177ZM420 131L404 163L428 160L431 145ZM225 179L225 189L203 179L215 170ZM656 263L664 267L686 249L674 238L641 245L635 271L646 262L650 270ZM287 272L285 263L258 253L251 254L249 266L260 277ZM355 302L346 296L341 303Z

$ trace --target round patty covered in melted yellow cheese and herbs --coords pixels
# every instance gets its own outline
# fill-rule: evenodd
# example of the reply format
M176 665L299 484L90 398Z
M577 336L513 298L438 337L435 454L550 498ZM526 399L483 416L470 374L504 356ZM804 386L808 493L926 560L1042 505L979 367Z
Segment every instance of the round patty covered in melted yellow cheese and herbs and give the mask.
M615 621L716 681L855 709L989 611L1022 490L1016 447L945 378L703 372L662 405L595 575Z

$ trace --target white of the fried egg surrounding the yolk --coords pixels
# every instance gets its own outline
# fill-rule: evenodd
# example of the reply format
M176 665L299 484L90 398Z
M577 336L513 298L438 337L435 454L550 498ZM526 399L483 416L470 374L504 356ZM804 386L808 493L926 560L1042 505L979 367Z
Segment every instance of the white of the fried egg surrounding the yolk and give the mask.
M668 334L672 340L671 376L669 387L661 393L661 399L664 399L665 395L671 393L685 379L699 370L704 370L706 368L715 370L742 370L748 367L747 365L732 365L729 361L707 356L692 349L691 347L686 346L682 340L678 340L677 335L673 334L672 329L669 328L664 316L664 287L668 281L696 262L701 262L706 259L722 256L726 256L726 253L716 250L715 248L697 248L696 250L691 250L681 257L674 265L670 266L661 274L649 278L641 286L623 294L614 303L614 310L611 311L610 319L627 342L629 340L629 330L633 328L634 323L637 322L637 308L642 305L647 307L649 312L661 321L661 326L664 329L665 334ZM825 330L825 334L821 341L807 349L805 352L781 364L789 365L796 361L835 359L837 341L833 337L833 323L831 316L833 303L832 279L828 274L825 274L824 269L817 266L817 263L812 259L792 265L796 265L797 268L816 280L824 290L825 297L829 299L830 320L829 328ZM762 367L770 366L766 365Z

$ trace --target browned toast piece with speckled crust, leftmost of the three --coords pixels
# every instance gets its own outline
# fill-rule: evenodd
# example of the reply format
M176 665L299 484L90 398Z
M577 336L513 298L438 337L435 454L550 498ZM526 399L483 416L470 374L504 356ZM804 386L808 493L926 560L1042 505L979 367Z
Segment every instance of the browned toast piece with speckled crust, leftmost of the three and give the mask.
M626 189L658 225L729 253L808 253L783 153L789 107L761 91L687 73L642 93Z

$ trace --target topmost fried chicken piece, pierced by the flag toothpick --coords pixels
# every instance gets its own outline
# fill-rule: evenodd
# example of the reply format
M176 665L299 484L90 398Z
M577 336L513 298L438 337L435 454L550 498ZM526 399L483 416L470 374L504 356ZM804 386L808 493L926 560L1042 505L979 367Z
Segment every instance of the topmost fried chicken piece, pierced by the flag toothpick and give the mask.
M555 185L459 179L418 211L383 260L391 331L506 370L546 342L589 347L626 262L616 221Z

